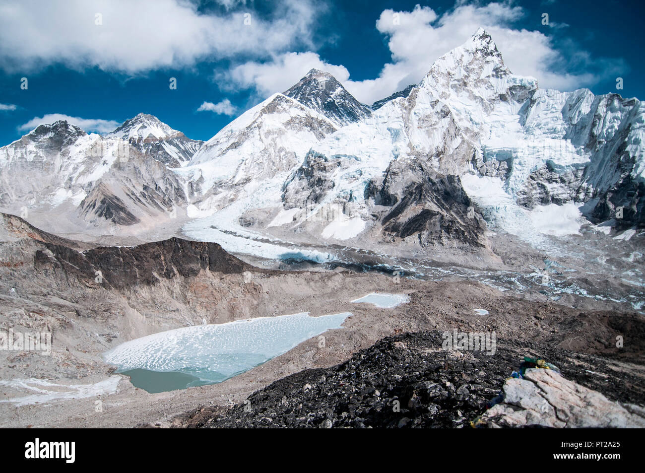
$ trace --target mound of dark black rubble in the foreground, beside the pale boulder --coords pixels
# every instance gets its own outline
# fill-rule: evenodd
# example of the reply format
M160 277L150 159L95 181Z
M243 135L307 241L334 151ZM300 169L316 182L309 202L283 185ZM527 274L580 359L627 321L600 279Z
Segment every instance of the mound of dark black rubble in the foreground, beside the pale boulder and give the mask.
M564 376L579 383L564 380L567 387L575 385L577 392L582 393L580 385L586 385L589 389L584 388L587 401L584 406L588 411L608 408L610 404L591 389L626 403L643 399L642 378L615 370L611 363L597 356L534 347L530 342L517 340L497 339L494 356L482 351L442 350L441 345L439 332L387 337L342 365L285 377L255 392L248 398L249 403L232 408L197 409L186 416L184 423L186 427L206 428L470 427L470 422L485 412L487 403L499 393L510 369L517 368L526 354L524 350L540 350L559 365ZM592 364L602 377L590 377L578 366ZM608 384L605 376L612 383ZM561 398L553 383L548 388L554 403L577 412L580 419L585 418L580 406L568 404L579 398ZM639 408L631 409L636 412ZM628 425L640 422L627 411L620 412L624 419L631 419ZM593 416L588 414L586 419L589 421Z

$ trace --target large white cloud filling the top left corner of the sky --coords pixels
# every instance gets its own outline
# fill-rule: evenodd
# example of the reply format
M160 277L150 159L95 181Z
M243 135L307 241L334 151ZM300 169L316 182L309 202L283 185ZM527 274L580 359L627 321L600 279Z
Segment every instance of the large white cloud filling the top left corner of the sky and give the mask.
M134 74L200 59L268 56L311 44L316 10L310 1L284 0L270 15L218 15L201 14L186 0L3 0L0 68L63 63Z

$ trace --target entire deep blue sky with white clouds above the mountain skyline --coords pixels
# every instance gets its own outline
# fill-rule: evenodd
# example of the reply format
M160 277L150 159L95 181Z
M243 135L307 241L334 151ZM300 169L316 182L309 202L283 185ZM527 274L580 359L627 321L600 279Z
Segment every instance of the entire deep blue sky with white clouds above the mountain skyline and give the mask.
M0 145L53 114L105 132L144 112L209 139L312 67L371 104L417 83L479 26L515 74L542 87L642 99L644 9L619 0L3 0Z

